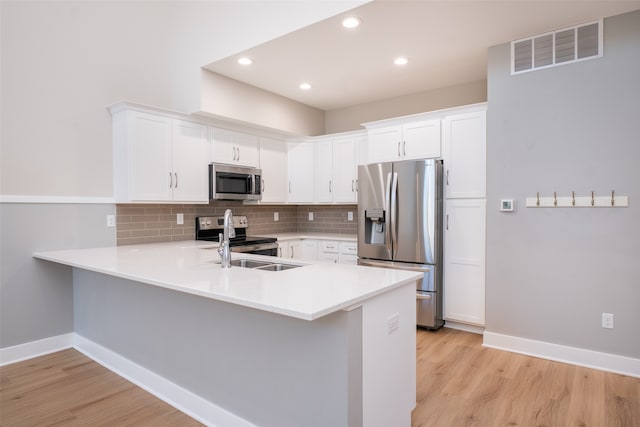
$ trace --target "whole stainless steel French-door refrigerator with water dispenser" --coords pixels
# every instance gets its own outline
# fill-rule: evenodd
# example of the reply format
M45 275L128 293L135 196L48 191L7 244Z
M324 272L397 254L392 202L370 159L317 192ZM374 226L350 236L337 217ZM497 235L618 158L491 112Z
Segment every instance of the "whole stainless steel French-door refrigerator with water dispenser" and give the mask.
M418 326L442 319L442 161L358 167L358 264L423 272Z

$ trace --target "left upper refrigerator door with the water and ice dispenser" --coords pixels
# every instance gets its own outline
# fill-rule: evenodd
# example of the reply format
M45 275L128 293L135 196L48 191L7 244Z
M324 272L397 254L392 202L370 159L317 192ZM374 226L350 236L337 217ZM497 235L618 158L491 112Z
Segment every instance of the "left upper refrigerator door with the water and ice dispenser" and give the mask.
M358 256L391 260L392 163L358 167Z

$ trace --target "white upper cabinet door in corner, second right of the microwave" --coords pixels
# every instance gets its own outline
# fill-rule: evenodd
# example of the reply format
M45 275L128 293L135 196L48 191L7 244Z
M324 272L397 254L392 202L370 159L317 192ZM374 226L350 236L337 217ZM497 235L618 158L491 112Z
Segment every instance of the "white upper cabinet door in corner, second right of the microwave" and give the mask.
M309 142L288 144L288 202L313 202L313 151Z

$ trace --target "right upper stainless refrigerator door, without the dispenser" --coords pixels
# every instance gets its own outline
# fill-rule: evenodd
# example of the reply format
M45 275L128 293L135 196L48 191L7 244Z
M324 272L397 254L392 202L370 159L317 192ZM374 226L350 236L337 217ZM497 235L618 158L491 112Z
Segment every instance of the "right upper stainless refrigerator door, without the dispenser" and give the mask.
M441 224L442 192L438 192L441 163L436 160L393 164L397 182L392 186L391 234L393 260L435 264ZM440 197L439 194L440 193Z

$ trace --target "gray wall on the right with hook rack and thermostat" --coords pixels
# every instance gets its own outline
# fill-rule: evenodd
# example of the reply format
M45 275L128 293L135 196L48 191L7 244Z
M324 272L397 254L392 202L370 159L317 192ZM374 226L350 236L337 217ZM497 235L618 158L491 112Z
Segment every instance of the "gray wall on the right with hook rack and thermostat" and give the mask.
M605 20L600 59L511 76L509 49L488 58L486 330L638 358L640 11ZM613 189L628 208L524 206Z

